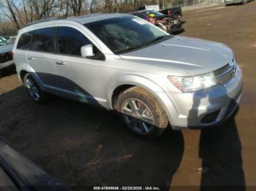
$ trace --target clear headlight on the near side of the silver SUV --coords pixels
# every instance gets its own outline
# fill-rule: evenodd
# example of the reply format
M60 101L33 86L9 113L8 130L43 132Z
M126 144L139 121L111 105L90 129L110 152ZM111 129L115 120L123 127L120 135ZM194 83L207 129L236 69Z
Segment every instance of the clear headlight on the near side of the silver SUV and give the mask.
M168 79L182 92L194 92L196 90L202 90L217 85L217 80L212 72L194 77L169 76Z

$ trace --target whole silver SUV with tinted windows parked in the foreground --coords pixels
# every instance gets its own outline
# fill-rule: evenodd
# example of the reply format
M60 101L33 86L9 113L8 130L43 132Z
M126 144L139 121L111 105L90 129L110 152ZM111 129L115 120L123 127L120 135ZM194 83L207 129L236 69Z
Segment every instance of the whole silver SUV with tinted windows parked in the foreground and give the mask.
M18 33L18 77L32 100L49 93L116 110L148 139L217 125L235 111L242 72L225 44L172 36L139 17L42 20Z

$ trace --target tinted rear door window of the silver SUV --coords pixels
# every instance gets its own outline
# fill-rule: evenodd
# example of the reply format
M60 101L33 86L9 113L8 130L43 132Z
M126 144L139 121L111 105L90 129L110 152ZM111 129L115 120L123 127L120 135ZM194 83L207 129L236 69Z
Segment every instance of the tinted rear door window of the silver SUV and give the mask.
M40 28L34 31L32 40L32 50L43 51L43 52L53 52L53 36L54 27Z

